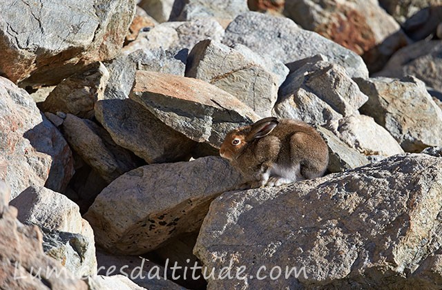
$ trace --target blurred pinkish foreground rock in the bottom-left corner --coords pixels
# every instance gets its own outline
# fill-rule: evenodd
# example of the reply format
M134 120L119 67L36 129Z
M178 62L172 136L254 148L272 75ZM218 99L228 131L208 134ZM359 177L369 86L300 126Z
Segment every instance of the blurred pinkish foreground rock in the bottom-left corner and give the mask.
M59 262L44 254L37 226L17 220L17 209L8 206L10 190L0 180L0 288L86 290L84 281L73 278ZM39 271L41 270L41 271ZM39 271L41 279L35 278Z

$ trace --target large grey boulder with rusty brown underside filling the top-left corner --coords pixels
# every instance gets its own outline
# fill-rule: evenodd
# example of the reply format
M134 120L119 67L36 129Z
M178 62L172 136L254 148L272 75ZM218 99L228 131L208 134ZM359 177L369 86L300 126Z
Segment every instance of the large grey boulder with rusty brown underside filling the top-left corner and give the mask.
M58 84L88 64L112 59L121 50L135 3L1 1L1 75L23 85Z

